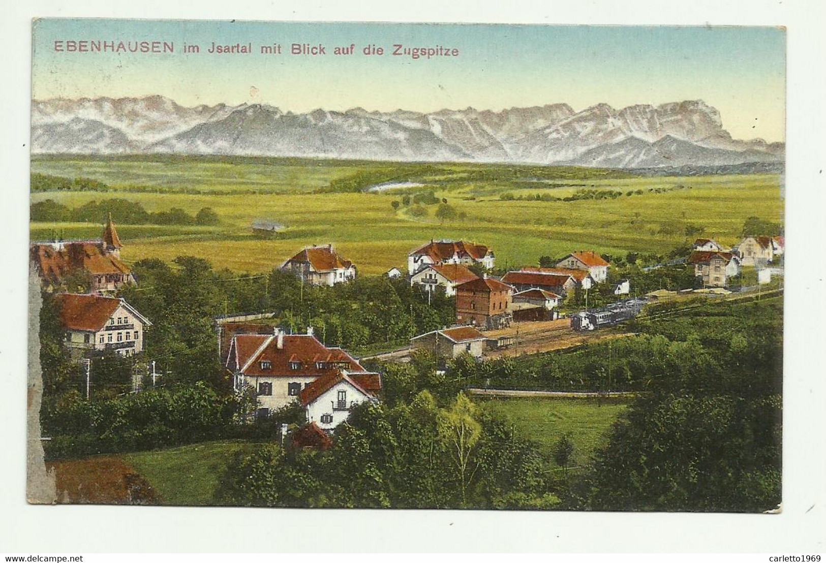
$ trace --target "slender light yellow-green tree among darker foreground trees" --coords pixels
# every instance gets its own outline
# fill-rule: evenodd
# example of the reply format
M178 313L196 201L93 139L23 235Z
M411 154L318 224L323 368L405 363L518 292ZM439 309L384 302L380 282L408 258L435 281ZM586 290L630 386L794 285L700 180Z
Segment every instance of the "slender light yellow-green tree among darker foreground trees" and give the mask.
M476 472L472 465L474 447L482 434L482 424L475 418L476 405L468 395L459 392L447 410L439 413L439 437L448 452L462 494L462 505L468 502L468 485Z

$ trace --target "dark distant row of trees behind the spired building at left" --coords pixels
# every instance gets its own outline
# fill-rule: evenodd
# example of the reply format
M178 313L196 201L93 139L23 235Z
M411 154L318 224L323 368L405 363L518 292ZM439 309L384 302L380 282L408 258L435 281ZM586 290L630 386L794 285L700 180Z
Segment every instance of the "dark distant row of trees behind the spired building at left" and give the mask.
M140 203L117 198L89 201L74 209L54 200L37 201L29 206L32 221L101 223L110 213L112 220L123 225L218 225L221 222L210 207L203 207L195 216L178 207L150 212Z

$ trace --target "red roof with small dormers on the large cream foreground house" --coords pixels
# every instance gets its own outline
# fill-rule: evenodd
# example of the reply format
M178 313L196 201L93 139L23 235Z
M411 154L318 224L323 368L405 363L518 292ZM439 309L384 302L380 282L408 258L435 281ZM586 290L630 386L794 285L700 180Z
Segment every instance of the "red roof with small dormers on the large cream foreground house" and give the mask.
M263 370L261 362L270 362L270 369ZM292 369L290 362L301 365ZM240 370L245 376L273 377L320 377L342 369L364 371L347 352L341 348L327 348L309 334L285 334L282 348L278 348L278 336L274 334L236 334L226 367Z

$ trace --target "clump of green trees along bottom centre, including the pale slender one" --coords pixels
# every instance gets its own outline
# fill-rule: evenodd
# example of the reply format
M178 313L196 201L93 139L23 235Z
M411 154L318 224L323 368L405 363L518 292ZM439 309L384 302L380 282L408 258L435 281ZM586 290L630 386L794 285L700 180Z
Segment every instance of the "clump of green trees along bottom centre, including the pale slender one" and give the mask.
M363 404L326 451L263 446L230 465L220 504L326 508L549 509L547 461L530 442L456 395Z

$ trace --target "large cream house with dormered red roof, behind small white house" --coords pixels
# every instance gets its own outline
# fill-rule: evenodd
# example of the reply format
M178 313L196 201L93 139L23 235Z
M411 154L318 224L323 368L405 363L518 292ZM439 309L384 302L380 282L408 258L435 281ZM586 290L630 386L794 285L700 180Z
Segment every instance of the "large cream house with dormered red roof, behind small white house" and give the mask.
M230 343L225 367L234 374L237 392L251 387L258 399L260 416L299 399L301 390L340 371L350 375L368 373L358 361L341 348L326 347L313 335L235 334Z

